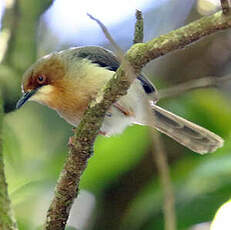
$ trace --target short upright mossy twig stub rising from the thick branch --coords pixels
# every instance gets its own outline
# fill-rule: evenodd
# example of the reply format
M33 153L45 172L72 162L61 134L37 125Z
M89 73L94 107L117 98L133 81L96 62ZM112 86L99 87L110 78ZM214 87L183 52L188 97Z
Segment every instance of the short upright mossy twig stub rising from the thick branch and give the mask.
M144 20L140 10L136 10L136 24L133 44L141 43L144 40Z

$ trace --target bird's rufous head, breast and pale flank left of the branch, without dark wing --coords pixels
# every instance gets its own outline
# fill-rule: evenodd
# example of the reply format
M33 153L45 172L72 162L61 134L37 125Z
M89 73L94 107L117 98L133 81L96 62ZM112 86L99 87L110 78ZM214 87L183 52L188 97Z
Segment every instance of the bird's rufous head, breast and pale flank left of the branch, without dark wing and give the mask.
M80 51L81 48L70 48L35 62L24 73L23 96L16 108L29 100L36 101L77 123L73 122L73 117L82 116L89 102L114 73L92 63Z

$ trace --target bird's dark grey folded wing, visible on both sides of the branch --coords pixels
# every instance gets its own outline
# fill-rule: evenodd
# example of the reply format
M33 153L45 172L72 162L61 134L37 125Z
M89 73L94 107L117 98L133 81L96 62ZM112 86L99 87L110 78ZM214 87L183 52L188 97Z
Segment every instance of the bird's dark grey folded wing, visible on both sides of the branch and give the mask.
M120 66L117 57L110 50L98 46L78 47L75 49L75 55L80 58L87 58L92 63L96 63L111 71L116 71ZM157 94L154 85L144 75L139 75L137 79L140 81L147 94Z

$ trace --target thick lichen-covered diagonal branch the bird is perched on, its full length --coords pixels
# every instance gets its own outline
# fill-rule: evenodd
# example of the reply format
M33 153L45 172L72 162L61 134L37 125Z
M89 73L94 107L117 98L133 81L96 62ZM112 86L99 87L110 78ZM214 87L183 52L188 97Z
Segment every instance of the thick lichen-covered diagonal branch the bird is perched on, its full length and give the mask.
M220 11L147 43L135 44L125 57L135 73L139 74L142 67L149 61L229 27L231 27L231 16L224 16ZM105 113L119 96L126 94L130 84L131 81L127 79L120 67L97 98L90 103L72 140L73 145L70 146L69 156L47 213L45 229L63 230L65 228L71 205L78 194L80 176L91 156Z

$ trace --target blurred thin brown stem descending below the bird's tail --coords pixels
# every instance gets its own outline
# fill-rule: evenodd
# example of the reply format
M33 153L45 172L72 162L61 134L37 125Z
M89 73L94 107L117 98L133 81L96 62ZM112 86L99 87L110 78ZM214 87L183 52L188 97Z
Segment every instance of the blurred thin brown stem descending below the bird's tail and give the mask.
M165 230L176 230L176 211L175 197L169 173L168 160L164 150L163 142L160 133L152 130L153 142L153 159L156 162L160 176L160 181L164 190L164 223Z

